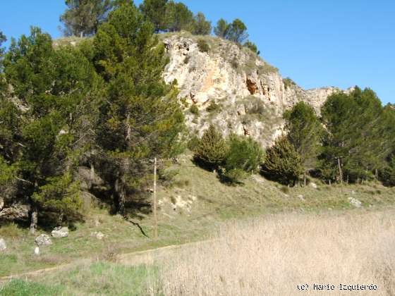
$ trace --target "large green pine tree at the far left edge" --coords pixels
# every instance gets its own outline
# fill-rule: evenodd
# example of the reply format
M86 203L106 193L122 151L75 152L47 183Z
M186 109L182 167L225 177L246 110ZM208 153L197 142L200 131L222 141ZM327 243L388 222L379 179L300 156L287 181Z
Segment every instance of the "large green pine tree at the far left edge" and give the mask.
M0 151L11 165L21 165L18 173L23 186L18 195L28 199L31 216L37 217L44 208L34 196L53 178L63 178L73 169L68 155L75 141L73 114L95 80L94 68L78 49L54 49L51 37L35 27L30 36L11 42L4 65L13 90L10 97L18 97L25 108L1 101L0 113L6 120L1 121L0 132L6 149ZM78 207L78 202L71 206ZM61 215L61 209L52 210ZM33 220L32 230L37 222Z

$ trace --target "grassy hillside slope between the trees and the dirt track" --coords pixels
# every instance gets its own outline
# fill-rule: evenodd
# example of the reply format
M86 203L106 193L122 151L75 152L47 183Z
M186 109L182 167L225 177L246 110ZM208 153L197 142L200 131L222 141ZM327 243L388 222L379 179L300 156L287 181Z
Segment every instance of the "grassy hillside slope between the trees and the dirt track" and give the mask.
M158 188L158 240L153 238L154 219L149 209L130 213L133 224L109 214L104 203L85 204L85 222L76 223L68 238L52 238L52 245L40 247L40 256L33 252L35 238L51 229L30 235L28 229L14 224L1 227L0 237L8 248L0 257L0 277L81 258L108 259L114 254L202 240L225 221L275 213L376 211L394 203L395 189L379 183L329 186L315 181L308 187L288 188L252 175L243 186L232 187L220 183L216 173L194 166L190 156L181 156L179 164L168 168L176 175ZM92 235L95 232L103 233L104 238L98 240Z

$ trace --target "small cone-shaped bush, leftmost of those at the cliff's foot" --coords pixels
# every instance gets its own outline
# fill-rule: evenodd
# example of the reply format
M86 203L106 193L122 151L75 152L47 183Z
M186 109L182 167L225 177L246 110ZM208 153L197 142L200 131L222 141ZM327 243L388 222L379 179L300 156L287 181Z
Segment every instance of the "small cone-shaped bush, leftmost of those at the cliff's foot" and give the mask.
M193 160L203 168L217 169L224 164L226 151L226 142L221 132L210 125L197 144Z

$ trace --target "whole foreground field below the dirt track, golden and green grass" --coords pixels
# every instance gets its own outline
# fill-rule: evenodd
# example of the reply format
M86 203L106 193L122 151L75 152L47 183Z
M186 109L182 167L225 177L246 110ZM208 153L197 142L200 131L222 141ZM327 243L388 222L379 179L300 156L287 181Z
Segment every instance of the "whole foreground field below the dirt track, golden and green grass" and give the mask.
M394 214L274 214L229 222L209 242L75 266L37 282L13 282L0 295L395 295ZM340 284L367 290L340 290ZM39 292L13 294L23 290Z

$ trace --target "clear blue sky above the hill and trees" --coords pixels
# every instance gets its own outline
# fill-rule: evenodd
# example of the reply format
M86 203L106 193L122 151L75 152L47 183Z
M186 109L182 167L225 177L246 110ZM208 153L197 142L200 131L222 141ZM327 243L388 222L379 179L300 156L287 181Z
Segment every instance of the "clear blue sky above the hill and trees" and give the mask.
M0 30L28 34L30 25L60 37L62 0L1 1ZM141 1L135 1L140 4ZM261 56L301 87L370 87L395 103L393 0L185 0L207 18L241 18Z

